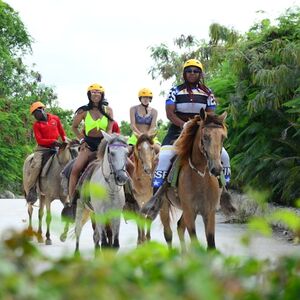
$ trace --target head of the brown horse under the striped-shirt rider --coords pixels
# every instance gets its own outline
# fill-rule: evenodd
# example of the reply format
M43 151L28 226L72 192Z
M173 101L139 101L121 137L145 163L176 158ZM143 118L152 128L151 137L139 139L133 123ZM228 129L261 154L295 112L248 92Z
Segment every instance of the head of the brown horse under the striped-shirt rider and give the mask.
M219 176L222 172L221 151L223 141L227 137L227 129L224 125L227 113L218 116L214 113L206 113L200 110L198 147L207 159L209 172Z

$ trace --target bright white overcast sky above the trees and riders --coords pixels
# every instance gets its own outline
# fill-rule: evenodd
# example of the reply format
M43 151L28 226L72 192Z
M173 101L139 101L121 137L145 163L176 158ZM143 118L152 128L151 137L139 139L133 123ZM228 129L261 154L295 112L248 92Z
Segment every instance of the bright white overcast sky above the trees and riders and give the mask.
M165 99L171 82L148 74L150 46L172 47L181 34L208 40L212 23L244 33L257 21L274 20L300 0L4 0L34 39L26 63L51 86L59 106L75 111L88 102L87 87L99 83L119 123L139 104L138 91L153 91L151 105L166 121ZM263 11L264 13L258 13Z

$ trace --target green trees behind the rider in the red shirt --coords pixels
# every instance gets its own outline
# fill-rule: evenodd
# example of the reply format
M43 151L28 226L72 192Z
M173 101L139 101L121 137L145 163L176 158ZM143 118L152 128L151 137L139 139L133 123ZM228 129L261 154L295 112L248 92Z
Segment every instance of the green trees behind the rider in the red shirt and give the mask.
M42 101L61 118L68 136L71 112L60 109L53 89L23 64L22 58L31 53L32 39L18 14L1 0L0 30L0 191L21 193L22 165L35 146L30 104Z

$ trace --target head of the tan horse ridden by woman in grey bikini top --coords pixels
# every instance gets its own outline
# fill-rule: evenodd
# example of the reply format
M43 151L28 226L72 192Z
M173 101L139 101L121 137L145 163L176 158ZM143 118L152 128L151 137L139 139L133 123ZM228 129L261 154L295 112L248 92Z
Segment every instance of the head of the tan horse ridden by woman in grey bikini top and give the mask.
M153 139L155 134L141 134L138 136L137 143L134 148L135 161L141 163L144 172L152 175L155 161L155 151Z

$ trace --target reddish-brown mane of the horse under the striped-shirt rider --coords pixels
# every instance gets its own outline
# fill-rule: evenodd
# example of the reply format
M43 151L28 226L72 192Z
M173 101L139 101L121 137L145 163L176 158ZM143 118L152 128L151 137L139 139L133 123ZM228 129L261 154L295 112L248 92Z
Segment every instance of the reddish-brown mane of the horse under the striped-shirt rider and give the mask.
M202 124L201 124L202 122ZM175 149L181 164L187 163L192 153L193 144L196 133L199 126L203 127L222 127L226 130L226 126L223 123L223 119L214 113L207 113L203 122L199 115L196 115L193 119L186 123L182 133L175 142Z

